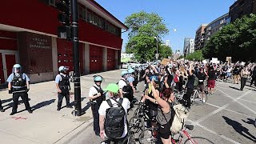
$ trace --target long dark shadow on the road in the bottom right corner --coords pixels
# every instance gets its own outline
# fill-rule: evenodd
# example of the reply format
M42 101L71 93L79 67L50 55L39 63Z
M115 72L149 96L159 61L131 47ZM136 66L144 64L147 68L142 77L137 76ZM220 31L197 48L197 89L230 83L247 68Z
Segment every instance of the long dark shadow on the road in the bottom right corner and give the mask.
M241 123L236 122L236 121L234 121L230 118L227 118L225 116L222 116L222 118L224 118L226 123L229 124L230 126L232 126L233 129L238 132L238 134L241 134L245 138L248 138L251 141L256 142L256 138L254 137L254 135L250 134L249 130L246 127L242 126Z

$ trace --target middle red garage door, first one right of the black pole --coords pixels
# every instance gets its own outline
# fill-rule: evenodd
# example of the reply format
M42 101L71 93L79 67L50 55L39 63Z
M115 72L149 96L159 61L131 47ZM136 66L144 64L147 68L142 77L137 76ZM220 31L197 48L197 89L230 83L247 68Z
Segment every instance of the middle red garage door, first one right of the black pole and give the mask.
M90 72L102 71L102 47L90 45Z

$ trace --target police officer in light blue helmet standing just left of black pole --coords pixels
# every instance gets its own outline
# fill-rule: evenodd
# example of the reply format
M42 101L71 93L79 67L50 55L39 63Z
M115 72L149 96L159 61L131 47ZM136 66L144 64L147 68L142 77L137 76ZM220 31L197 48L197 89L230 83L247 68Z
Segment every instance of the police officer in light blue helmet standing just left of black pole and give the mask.
M67 70L69 69L66 66L59 66L59 74L55 78L55 83L58 90L58 111L62 108L62 100L64 97L66 98L66 108L72 108L70 105L70 77L67 74Z

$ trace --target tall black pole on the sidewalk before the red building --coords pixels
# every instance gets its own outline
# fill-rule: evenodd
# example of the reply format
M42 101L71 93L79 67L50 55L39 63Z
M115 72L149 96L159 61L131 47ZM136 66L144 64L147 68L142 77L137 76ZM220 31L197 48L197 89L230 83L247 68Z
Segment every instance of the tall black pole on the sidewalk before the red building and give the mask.
M80 87L80 70L79 70L79 50L78 50L78 0L71 0L72 14L72 42L73 42L73 63L74 63L74 106L72 114L80 116L82 113L81 106L81 87Z

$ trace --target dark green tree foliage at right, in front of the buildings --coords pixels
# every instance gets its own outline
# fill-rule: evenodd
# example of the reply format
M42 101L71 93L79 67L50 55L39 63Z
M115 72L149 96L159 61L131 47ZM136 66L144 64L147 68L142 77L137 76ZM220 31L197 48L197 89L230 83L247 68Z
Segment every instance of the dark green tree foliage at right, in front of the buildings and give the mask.
M244 16L224 26L214 34L203 48L205 58L222 61L232 57L232 61L255 61L256 15Z

